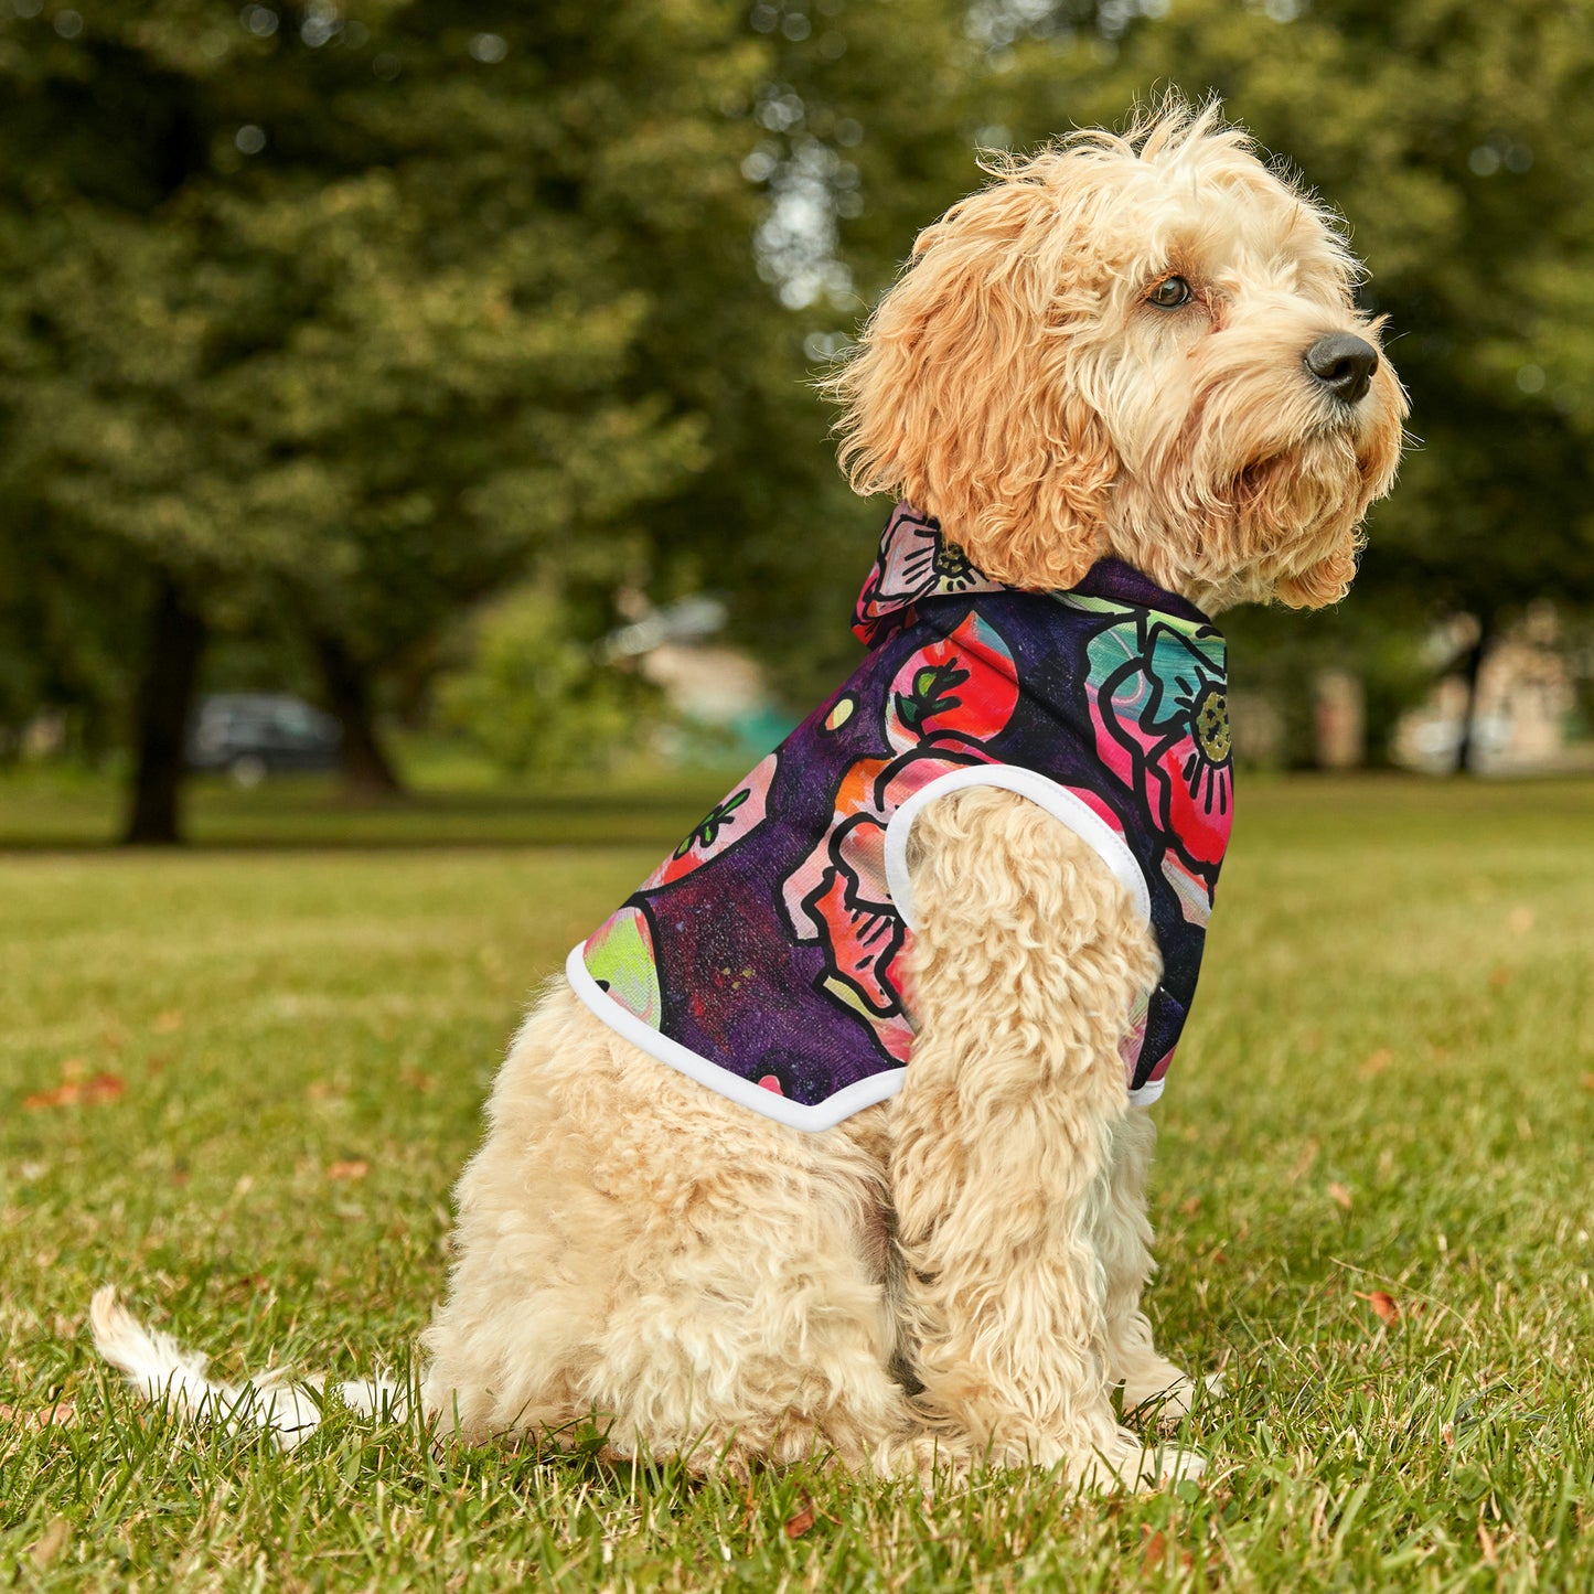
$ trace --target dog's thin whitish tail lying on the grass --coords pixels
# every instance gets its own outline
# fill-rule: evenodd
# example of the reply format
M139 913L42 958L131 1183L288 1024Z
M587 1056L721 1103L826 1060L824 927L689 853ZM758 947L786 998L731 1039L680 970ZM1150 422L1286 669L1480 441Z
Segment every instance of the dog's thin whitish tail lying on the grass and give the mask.
M118 1299L116 1286L94 1291L89 1302L94 1349L145 1398L188 1417L220 1422L228 1433L257 1428L284 1451L308 1439L320 1423L325 1379L290 1379L265 1372L242 1384L206 1377L207 1358L183 1350L171 1334L145 1328ZM336 1385L343 1403L365 1417L403 1417L408 1390L389 1377Z

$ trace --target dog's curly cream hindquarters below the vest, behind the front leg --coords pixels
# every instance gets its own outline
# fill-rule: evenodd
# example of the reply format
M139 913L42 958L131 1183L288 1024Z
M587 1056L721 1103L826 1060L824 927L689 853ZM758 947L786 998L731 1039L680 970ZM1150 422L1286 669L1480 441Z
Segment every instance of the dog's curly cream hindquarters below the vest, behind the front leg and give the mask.
M427 1409L465 1438L596 1423L615 1455L703 1471L869 1466L909 1427L885 1111L786 1129L553 988L459 1184Z

